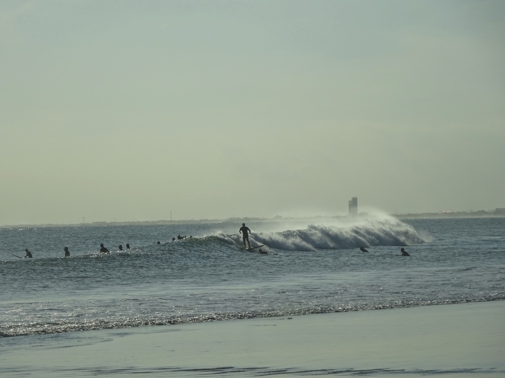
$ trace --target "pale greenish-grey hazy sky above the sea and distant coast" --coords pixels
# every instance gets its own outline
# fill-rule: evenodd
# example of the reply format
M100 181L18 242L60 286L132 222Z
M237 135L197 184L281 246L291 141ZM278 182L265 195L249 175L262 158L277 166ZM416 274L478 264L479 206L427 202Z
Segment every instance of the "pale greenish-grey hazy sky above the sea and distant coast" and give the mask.
M505 2L0 2L0 225L505 207Z

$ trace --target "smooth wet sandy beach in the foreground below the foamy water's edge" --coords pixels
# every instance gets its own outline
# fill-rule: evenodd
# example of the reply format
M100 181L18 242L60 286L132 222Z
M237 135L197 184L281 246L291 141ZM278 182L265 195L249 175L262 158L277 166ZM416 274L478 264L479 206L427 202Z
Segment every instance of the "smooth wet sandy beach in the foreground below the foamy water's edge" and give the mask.
M505 301L68 334L0 345L0 375L505 375Z

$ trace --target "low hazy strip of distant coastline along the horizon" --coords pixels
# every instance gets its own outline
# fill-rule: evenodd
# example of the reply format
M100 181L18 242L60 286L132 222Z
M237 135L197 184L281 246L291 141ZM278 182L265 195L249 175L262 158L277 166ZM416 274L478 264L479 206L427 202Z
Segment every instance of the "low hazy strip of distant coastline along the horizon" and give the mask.
M183 220L155 220L155 221L124 221L124 222L91 222L91 223L43 223L43 224L16 224L16 225L1 225L0 228L12 227L78 227L78 226L120 226L120 225L152 225L152 224L198 224L198 223L242 223L242 222L272 222L272 221L314 221L314 220L331 220L345 218L365 218L369 213L362 212L356 216L350 215L335 215L324 216L316 215L312 217L282 217L277 215L273 218L227 218L227 219L183 219ZM438 213L404 213L404 214L389 214L397 219L416 219L416 218L494 218L505 217L505 208L496 208L493 211L442 211Z

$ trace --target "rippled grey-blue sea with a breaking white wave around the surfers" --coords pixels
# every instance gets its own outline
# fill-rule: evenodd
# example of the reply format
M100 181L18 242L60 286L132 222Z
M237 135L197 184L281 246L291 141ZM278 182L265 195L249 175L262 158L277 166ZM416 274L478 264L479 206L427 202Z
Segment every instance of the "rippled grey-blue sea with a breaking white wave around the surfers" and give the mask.
M0 337L505 299L505 218L246 225L0 228Z

